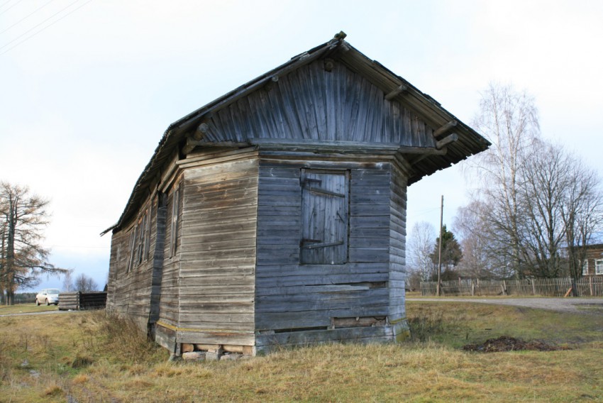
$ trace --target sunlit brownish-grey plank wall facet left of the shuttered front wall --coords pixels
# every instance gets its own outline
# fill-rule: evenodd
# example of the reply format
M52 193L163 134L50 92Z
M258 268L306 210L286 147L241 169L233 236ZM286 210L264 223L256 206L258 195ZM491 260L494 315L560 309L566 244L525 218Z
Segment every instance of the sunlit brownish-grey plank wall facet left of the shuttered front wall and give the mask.
M257 152L199 164L184 170L178 341L253 346Z

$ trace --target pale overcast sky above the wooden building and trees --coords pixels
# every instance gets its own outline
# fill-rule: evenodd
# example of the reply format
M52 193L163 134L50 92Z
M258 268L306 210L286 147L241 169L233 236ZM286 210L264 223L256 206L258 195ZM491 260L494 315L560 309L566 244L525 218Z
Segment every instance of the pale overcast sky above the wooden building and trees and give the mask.
M50 199L51 263L102 287L110 234L173 121L339 31L470 123L489 82L603 173L601 1L0 0L0 180ZM466 202L458 167L409 188L408 229ZM42 287L62 279L43 278Z

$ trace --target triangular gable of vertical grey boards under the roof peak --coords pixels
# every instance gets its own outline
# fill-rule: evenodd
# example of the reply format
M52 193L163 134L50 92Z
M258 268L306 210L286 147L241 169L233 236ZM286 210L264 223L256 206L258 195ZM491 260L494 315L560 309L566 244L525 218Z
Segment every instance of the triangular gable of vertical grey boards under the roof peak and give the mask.
M433 129L399 101L341 62L324 61L279 77L206 120L204 141L299 138L433 147Z

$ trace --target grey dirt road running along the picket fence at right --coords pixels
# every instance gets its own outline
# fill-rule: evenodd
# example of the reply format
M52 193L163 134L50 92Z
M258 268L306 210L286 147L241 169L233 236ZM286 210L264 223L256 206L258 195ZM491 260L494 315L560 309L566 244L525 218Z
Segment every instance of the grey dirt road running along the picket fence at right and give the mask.
M479 304L511 305L575 314L603 315L603 298L406 298L406 301L475 302Z

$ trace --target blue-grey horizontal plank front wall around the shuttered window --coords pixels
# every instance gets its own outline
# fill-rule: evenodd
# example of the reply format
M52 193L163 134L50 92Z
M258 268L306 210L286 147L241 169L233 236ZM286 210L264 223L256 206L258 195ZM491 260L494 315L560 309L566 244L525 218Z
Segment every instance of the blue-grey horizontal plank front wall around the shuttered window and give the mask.
M302 167L338 167L350 172L348 263L299 263ZM258 350L271 343L295 344L300 337L345 341L391 336L380 326L334 329L340 319L383 319L389 314L390 177L389 164L299 165L274 158L260 162L255 289ZM333 329L328 336L323 334L327 329ZM303 335L295 333L300 331Z

